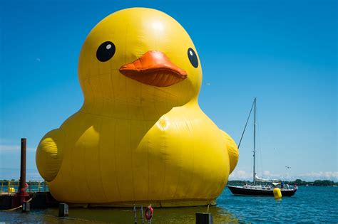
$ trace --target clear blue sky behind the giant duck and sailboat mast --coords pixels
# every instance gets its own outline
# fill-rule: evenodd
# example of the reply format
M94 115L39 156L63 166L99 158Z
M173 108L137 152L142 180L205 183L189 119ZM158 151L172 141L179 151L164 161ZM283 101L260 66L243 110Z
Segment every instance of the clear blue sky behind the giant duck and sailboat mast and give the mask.
M91 28L143 6L188 31L203 68L200 106L236 142L257 97L260 176L338 179L336 1L1 1L0 179L41 179L35 149L83 103L78 55ZM286 169L290 166L291 169ZM252 125L232 179L251 178Z

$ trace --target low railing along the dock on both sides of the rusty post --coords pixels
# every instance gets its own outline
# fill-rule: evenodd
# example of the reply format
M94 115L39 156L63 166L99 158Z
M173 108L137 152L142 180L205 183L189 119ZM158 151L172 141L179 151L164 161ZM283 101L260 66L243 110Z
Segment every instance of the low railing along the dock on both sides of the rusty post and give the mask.
M46 181L27 181L28 187L26 188L26 192L34 193L34 192L46 192L49 191ZM0 181L0 193L1 194L11 194L18 192L19 189L19 180L11 180L11 181Z

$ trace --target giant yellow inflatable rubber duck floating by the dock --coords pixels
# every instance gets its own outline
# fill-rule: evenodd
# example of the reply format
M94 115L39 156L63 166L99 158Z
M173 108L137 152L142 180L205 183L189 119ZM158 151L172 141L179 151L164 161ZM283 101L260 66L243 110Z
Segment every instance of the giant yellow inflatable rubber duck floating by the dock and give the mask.
M90 206L215 203L238 150L200 110L200 60L175 19L145 8L107 16L83 44L78 78L83 106L36 151L54 198Z

